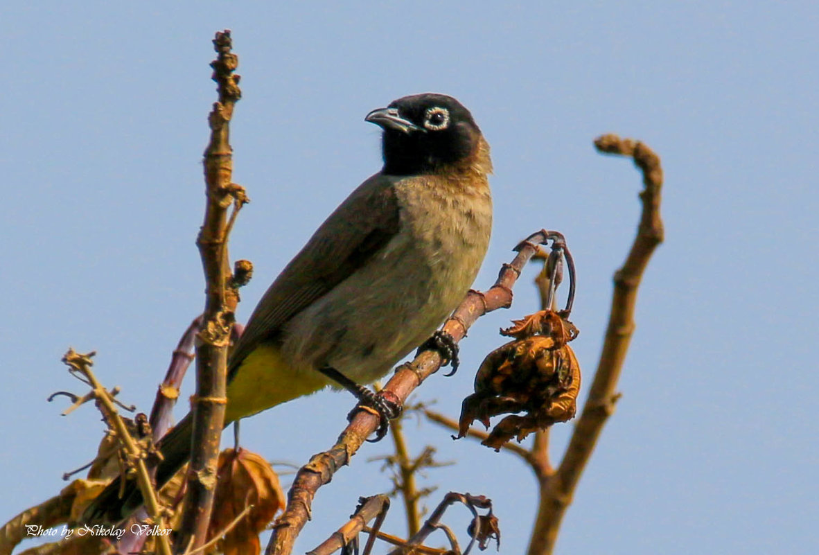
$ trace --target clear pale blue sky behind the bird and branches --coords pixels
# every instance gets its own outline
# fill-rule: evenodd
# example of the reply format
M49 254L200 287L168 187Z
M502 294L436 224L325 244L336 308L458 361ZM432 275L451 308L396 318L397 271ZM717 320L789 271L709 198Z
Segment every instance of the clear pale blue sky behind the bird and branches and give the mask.
M239 319L379 169L378 129L364 115L446 92L473 112L495 163L495 228L476 287L522 237L562 231L577 259L573 345L588 383L640 189L627 160L595 154L591 141L645 140L663 158L667 241L640 291L623 397L557 553L815 553L819 7L271 4L0 8L2 520L55 494L62 472L95 452L93 408L60 417L63 406L45 402L81 390L59 362L67 347L97 350L98 376L147 412L201 310L207 64L213 33L229 28L244 93L234 179L252 199L231 254L256 265ZM470 332L459 374L432 377L420 395L456 415L473 370L503 341L498 327L535 304L523 279L513 309ZM246 422L247 448L304 462L332 444L351 399L323 392L291 405ZM501 553L522 553L536 503L527 469L432 425L405 427L414 451L431 443L459 461L428 473L441 487L432 503L446 490L486 494ZM569 429L556 429L555 455ZM335 530L359 495L389 489L367 462L387 449L366 445L319 492L296 551ZM387 526L402 534L398 507ZM462 530L466 519L450 522Z

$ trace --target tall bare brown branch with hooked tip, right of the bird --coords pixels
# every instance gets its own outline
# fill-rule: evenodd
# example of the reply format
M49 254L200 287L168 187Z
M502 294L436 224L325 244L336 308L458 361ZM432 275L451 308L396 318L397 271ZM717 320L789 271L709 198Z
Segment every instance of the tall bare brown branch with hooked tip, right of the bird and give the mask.
M644 143L621 139L616 135L604 135L596 139L595 147L600 152L634 158L643 174L645 186L640 192L642 214L626 262L614 274L609 326L589 397L577 419L563 460L553 476L541 481L541 502L528 555L552 553L560 522L571 503L577 481L595 448L604 423L613 413L618 399L615 388L635 327L637 288L654 249L663 241L663 221L659 213L663 169L660 167L659 157Z

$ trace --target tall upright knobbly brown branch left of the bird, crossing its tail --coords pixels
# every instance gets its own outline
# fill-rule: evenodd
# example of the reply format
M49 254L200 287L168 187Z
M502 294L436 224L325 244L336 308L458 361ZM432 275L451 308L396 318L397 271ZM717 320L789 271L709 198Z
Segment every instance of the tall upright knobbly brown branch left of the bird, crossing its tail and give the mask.
M226 381L230 331L238 303L238 292L231 287L233 276L228 261L228 236L238 210L247 202L242 187L231 182L233 155L229 124L233 107L242 96L238 56L231 52L230 31L216 34L216 60L211 62L219 102L208 117L210 142L205 149L207 204L205 221L197 238L206 278L206 303L197 336L197 393L192 400L193 435L188 467L188 491L177 553L196 549L206 541L207 526L216 484L219 439L227 404ZM228 214L230 205L233 212Z

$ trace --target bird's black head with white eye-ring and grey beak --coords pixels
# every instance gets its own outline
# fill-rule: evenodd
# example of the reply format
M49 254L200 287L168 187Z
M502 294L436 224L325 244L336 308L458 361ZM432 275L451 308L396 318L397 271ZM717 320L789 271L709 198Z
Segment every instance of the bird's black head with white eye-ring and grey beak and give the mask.
M371 111L364 120L384 130L384 174L429 174L450 169L468 163L483 142L472 114L444 94L428 92L399 98L386 108Z

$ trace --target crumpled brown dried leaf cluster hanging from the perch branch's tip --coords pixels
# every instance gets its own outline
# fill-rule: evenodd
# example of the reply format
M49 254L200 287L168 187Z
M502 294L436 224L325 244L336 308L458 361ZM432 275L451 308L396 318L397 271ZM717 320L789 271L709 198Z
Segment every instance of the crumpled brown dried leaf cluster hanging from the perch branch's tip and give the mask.
M567 345L577 327L550 310L514 324L501 333L517 339L486 356L475 377L475 393L461 406L458 437L475 420L488 429L491 417L525 413L507 416L495 426L483 441L495 450L512 438L520 441L532 431L566 422L577 411L580 364Z

